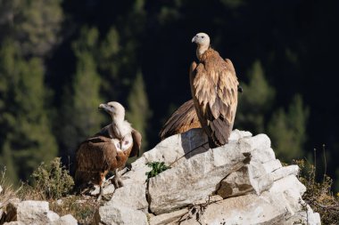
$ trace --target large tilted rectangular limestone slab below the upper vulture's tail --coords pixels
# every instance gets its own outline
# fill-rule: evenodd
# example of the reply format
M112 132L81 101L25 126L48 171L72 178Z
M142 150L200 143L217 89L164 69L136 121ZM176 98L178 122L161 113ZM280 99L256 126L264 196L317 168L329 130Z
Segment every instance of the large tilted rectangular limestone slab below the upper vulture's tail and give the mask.
M227 174L249 161L236 150L236 141L190 157L149 181L148 201L152 213L169 213L211 195ZM170 203L170 204L169 204Z

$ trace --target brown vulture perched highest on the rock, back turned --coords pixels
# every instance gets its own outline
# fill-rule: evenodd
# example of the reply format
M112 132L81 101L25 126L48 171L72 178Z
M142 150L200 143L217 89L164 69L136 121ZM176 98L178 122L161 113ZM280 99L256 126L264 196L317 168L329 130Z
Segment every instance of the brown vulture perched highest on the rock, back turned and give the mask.
M210 46L210 36L193 37L199 60L189 70L194 107L211 148L228 142L236 117L238 81L231 60L223 60Z

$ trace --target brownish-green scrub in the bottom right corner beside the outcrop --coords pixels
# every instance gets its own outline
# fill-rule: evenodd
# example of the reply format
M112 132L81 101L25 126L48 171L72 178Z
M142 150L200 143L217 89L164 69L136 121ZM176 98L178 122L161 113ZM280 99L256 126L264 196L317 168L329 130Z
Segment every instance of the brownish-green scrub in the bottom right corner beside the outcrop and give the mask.
M331 191L333 181L325 173L322 181L316 181L316 166L304 160L294 160L301 168L299 180L306 186L303 200L320 214L323 224L339 224L339 196Z

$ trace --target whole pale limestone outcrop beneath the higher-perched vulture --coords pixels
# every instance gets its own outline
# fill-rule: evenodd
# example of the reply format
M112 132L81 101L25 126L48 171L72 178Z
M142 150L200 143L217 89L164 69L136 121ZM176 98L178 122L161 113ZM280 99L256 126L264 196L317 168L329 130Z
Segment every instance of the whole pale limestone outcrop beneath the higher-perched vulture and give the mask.
M146 182L147 163L170 169ZM125 186L95 213L95 224L320 224L302 201L296 165L282 166L269 137L234 131L209 149L201 129L171 136L132 164Z

